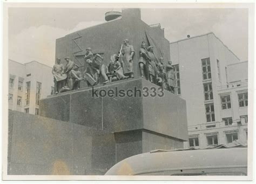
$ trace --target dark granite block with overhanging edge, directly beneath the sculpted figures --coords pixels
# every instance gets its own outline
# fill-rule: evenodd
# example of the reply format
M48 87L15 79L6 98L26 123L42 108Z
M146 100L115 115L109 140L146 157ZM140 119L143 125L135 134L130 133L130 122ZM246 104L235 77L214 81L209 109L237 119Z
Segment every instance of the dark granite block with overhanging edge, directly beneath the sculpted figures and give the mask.
M134 95L136 88L145 91L156 88L157 96ZM177 95L160 89L145 79L117 81L93 90L114 91L114 96L92 96L92 88L83 88L63 94L52 95L40 101L39 115L90 126L110 132L145 129L180 140L187 140L186 102ZM116 95L123 89L132 96ZM119 94L119 93L117 93ZM152 94L150 92L150 94ZM159 97L158 94L161 96ZM57 108L56 105L58 102ZM69 117L69 118L68 118Z

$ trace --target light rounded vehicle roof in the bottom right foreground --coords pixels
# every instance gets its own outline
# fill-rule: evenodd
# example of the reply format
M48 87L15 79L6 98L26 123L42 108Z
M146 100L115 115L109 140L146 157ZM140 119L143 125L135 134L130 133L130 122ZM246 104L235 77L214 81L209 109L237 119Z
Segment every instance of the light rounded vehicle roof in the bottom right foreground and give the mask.
M105 175L136 175L176 169L247 166L247 146L154 150L126 158Z

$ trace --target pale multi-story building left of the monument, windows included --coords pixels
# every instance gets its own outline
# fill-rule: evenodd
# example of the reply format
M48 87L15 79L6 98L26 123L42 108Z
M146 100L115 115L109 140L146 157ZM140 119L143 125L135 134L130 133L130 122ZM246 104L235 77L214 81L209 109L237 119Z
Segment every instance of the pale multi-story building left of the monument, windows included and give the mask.
M39 100L53 93L52 68L37 61L9 60L9 110L38 115Z

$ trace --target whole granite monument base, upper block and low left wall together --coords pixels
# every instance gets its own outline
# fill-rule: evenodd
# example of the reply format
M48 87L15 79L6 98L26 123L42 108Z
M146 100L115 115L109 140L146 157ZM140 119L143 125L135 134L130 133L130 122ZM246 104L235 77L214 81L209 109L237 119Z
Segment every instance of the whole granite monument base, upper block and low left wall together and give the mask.
M126 95L92 95L121 89ZM10 111L8 174L101 175L132 155L183 147L186 103L161 91L144 79L122 80L49 96L40 116Z

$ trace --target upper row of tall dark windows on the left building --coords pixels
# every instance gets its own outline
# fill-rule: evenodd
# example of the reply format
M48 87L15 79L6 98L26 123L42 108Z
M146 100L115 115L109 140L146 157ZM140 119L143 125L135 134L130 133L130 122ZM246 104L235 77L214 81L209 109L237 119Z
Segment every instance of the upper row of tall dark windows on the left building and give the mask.
M39 100L41 97L41 90L42 90L42 83L37 82L37 84L36 84L36 105L39 105ZM8 97L9 104L12 104L12 99L13 99L13 95L9 94L9 97ZM25 94L25 105L29 105L29 104L30 104L30 81L26 82L26 94ZM22 97L21 96L17 97L17 105L19 105L19 106L22 105Z

